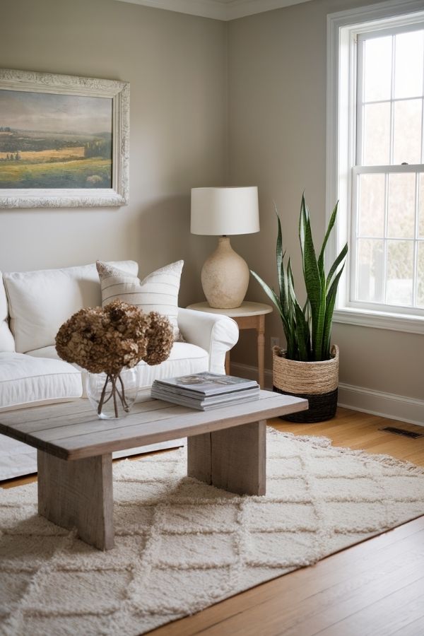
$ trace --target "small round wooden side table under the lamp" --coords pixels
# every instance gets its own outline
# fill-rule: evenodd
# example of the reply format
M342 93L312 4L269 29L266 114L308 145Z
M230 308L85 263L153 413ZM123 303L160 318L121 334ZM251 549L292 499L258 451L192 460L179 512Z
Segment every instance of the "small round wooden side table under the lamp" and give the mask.
M237 322L239 329L256 329L257 331L257 347L258 347L258 376L261 389L264 388L265 370L265 314L270 314L273 310L271 305L265 305L264 302L242 302L240 307L234 309L216 309L209 307L208 302L195 302L194 305L188 305L187 309L193 309L198 312L209 312L210 314L222 314L228 316ZM230 373L230 352L225 355L225 373Z

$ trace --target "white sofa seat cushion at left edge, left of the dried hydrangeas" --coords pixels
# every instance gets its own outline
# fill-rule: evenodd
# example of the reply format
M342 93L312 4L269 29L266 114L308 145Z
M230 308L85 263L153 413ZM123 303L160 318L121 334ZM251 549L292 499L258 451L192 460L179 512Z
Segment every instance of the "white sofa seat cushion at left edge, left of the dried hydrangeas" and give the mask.
M0 353L0 411L81 397L81 373L63 360Z

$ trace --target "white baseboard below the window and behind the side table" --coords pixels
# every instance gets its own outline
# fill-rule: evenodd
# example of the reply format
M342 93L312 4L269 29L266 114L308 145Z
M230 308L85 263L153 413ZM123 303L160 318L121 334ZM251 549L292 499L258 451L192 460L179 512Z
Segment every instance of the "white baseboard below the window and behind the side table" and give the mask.
M251 365L231 363L231 373L240 377L257 379L258 370L257 367ZM265 388L272 389L272 371L270 369L265 370ZM403 395L374 391L341 382L338 385L338 406L351 408L353 411L371 413L389 420L400 420L424 426L424 400Z

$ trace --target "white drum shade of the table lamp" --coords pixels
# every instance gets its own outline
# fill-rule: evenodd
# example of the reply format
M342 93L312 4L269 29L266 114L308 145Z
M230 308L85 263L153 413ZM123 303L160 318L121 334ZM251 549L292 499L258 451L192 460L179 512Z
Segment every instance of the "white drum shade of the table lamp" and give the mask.
M257 187L192 188L190 230L216 236L259 232Z

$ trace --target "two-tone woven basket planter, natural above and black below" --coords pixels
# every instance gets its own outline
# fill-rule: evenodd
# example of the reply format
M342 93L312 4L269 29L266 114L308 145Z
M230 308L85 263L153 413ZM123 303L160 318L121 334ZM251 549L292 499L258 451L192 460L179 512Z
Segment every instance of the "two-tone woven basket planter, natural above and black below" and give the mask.
M323 422L336 415L338 389L338 346L331 347L331 359L319 362L287 360L279 347L273 347L273 390L305 398L307 411L282 419L289 422Z

